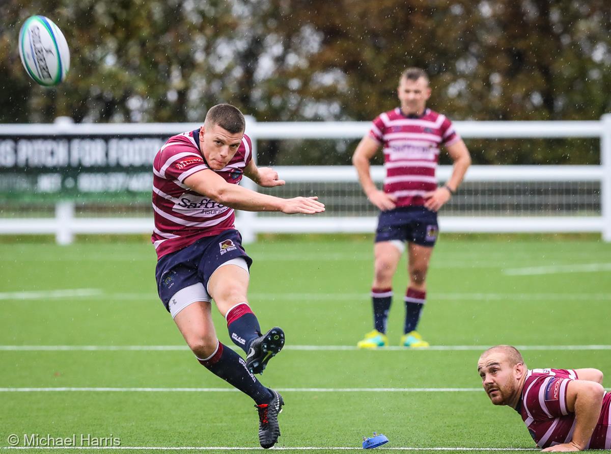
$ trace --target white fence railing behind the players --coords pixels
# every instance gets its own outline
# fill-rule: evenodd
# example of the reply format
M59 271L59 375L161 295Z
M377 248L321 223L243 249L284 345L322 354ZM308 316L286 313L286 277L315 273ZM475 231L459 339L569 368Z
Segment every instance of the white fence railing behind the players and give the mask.
M354 139L362 137L369 122L256 122L247 119L247 133L251 136L256 154L259 139ZM51 125L0 125L3 135L115 135L155 134L172 135L194 129L197 124L51 124ZM564 213L540 214L536 210L525 210L513 215L511 210L500 210L489 215L477 209L450 210L442 212L440 228L447 232L461 233L528 233L528 232L599 232L606 241L611 241L611 114L600 121L560 122L455 122L455 127L464 138L598 138L600 140L600 164L590 166L472 166L466 176L465 185L529 184L596 184L594 192L599 194L596 208L582 213L579 210ZM153 151L154 154L154 151ZM305 190L316 184L352 185L356 187L356 172L350 166L284 166L276 168L280 176ZM437 177L440 181L450 175L449 166L440 166ZM374 180L384 178L381 167L373 167ZM248 179L244 185L256 189ZM287 187L289 185L287 184ZM461 192L463 188L461 188ZM476 190L477 192L477 190ZM356 193L355 193L356 194ZM279 193L279 195L283 195ZM288 195L287 195L288 196ZM354 195L353 198L356 198ZM362 194L358 195L364 200ZM572 197L572 196L571 196ZM569 197L569 198L571 198ZM500 196L488 196L499 200ZM511 197L505 204L512 203ZM496 203L496 202L494 202ZM497 207L498 211L498 207ZM341 210L334 215L269 216L252 212L241 212L236 225L246 242L252 242L257 233L371 233L376 219L373 213L346 215ZM505 213L505 214L503 214ZM148 233L152 231L152 218L108 218L75 217L75 204L71 201L57 203L54 218L0 218L0 234L55 234L57 242L68 244L75 234L96 233Z

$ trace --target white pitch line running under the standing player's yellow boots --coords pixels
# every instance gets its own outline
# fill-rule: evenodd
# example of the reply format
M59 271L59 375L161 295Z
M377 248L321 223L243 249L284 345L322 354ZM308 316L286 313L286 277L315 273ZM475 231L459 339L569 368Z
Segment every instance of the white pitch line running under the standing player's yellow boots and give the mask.
M401 346L387 346L368 351L484 351L492 345L433 345L427 348L406 349ZM229 346L234 350L238 347ZM516 345L524 351L563 350L611 350L611 345ZM0 351L188 351L186 345L0 345ZM354 345L287 345L283 350L295 351L362 351Z

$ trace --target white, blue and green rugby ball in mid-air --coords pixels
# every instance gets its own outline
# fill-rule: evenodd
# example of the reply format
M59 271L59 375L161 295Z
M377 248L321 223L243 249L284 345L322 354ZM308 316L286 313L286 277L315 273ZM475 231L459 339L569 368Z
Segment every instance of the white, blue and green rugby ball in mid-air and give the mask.
M70 50L64 34L49 18L27 18L19 32L21 63L35 83L59 84L70 69Z

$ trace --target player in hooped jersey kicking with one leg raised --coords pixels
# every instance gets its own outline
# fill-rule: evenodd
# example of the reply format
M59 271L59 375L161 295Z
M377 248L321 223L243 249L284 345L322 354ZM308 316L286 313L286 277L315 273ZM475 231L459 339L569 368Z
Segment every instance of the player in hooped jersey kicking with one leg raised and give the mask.
M285 183L273 169L257 168L244 127L240 110L220 104L208 111L202 127L161 147L153 163L152 241L161 301L199 362L255 401L259 442L269 448L280 435L277 416L284 401L254 374L282 349L284 332L274 327L262 335L247 303L252 259L233 225L233 209L315 214L324 205L316 197L283 199L240 187L243 174L263 187ZM246 361L216 337L211 299Z

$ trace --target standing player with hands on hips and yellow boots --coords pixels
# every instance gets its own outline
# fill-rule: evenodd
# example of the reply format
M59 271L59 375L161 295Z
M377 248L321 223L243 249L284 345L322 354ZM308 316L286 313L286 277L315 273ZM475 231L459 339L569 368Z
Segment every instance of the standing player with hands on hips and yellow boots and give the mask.
M371 297L374 329L357 344L378 348L388 344L386 321L392 301L392 277L408 243L409 286L401 345L428 347L416 331L426 302L426 272L437 240L437 211L458 189L471 158L452 122L426 108L431 95L428 76L408 68L397 87L401 106L380 114L353 155L365 195L381 210L375 238L375 270ZM452 176L437 187L435 170L443 145L454 162ZM378 190L370 175L370 160L384 151L386 179Z

